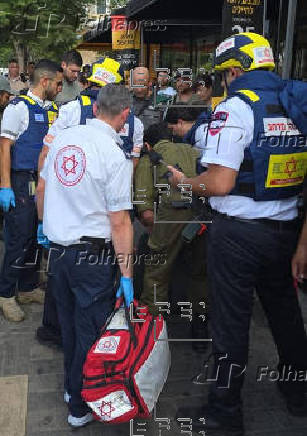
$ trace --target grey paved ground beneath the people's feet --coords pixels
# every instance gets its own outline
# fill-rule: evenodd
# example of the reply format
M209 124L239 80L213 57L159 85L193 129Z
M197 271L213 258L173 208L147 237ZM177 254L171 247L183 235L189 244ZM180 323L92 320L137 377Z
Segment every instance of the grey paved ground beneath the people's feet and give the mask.
M300 298L303 311L307 314L307 296L302 295ZM0 315L0 377L28 375L27 436L69 436L72 430L66 423L67 407L63 403L62 353L60 350L38 344L34 338L35 329L41 322L42 308L39 305L31 305L25 307L25 310L27 319L20 324L10 324ZM307 322L307 319L305 321ZM182 338L189 334L189 325L185 322L174 321L170 329L172 337ZM94 423L87 428L74 431L74 434L180 434L173 422L177 407L187 403L200 403L206 395L207 386L191 383L192 377L201 370L203 358L192 352L190 344L172 343L171 351L172 367L168 382L160 396L156 420L147 421L144 425L141 425L141 421L135 422L133 428L129 428L129 425L104 426ZM244 388L246 435L306 436L307 418L293 418L287 414L283 400L277 394L275 383L256 382L258 367L274 367L276 361L271 335L256 302L251 329L250 366ZM169 430L166 428L167 425Z

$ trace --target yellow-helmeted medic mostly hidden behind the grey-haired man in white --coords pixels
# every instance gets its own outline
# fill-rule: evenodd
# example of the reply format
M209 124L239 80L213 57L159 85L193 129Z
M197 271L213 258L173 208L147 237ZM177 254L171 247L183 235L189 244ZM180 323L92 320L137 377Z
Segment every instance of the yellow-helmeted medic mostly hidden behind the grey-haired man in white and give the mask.
M39 171L52 147L54 139L64 129L77 125L85 125L95 117L96 99L101 88L109 83L119 84L122 81L120 63L106 57L92 65L91 75L87 79L91 86L74 101L60 107L59 116L51 126L44 139L44 146L39 158ZM142 122L130 111L128 119L119 132L118 143L136 165L143 147L144 128ZM57 317L52 290L47 284L42 326L36 331L37 339L45 344L61 345L60 326Z

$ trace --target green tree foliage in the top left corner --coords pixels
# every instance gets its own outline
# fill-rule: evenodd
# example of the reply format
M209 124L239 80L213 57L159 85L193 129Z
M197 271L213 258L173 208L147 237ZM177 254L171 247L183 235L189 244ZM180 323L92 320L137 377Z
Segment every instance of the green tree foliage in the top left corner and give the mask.
M0 51L10 48L21 67L27 59L59 60L76 44L86 6L93 1L0 0Z

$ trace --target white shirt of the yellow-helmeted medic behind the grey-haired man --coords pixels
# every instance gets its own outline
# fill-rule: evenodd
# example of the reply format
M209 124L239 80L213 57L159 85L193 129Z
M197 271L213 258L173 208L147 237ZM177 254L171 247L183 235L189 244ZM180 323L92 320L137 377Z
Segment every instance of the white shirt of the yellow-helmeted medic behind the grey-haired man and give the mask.
M81 104L79 100L70 101L60 107L59 116L48 130L44 144L51 146L53 139L64 129L78 126L81 119ZM90 120L87 120L87 122ZM129 131L128 123L125 124L125 131ZM142 121L134 117L133 149L143 147L144 126Z

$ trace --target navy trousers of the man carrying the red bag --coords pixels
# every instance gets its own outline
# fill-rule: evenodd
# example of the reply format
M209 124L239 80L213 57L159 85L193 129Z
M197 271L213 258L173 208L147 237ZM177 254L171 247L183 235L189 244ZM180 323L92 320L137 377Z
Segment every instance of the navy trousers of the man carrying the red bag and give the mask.
M63 341L64 388L71 395L70 413L81 417L89 411L81 398L83 364L114 308L117 266L90 244L51 250L49 280Z

